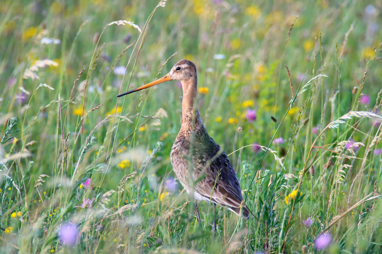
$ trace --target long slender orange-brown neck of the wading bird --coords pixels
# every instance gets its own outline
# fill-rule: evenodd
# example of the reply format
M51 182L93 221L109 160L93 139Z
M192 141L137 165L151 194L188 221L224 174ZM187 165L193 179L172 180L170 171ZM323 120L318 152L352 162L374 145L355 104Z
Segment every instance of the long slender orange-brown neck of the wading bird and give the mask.
M194 126L200 125L202 120L200 118L199 109L196 105L196 95L197 95L197 81L196 79L190 79L187 81L182 81L183 87L183 100L182 100L182 129L193 128Z

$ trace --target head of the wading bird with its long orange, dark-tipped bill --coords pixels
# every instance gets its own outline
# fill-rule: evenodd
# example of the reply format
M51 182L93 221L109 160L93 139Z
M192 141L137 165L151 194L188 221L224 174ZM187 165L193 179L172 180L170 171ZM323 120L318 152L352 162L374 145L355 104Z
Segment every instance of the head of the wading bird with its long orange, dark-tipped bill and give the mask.
M197 77L196 77L195 64L193 64L193 62L191 62L189 60L183 59L183 60L180 60L179 62L177 62L171 68L170 72L167 73L167 75L165 75L164 77L159 78L159 79L152 81L150 83L147 83L146 85L135 88L133 90L130 90L126 93L120 94L117 97L121 97L121 96L124 96L126 94L134 93L136 91L140 91L142 89L149 88L151 86L155 86L155 85L158 85L160 83L163 83L163 82L169 81L169 80L178 80L178 81L181 81L183 83L183 81L188 81L188 80L195 80L196 81L196 79L197 79Z

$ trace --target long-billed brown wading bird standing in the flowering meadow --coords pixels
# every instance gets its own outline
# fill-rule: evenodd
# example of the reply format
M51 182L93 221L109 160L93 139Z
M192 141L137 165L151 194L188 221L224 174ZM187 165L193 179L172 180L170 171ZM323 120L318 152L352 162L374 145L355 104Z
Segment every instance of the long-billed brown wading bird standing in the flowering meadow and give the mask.
M197 73L193 62L180 60L164 77L117 97L170 80L180 81L183 89L181 127L170 152L176 177L186 192L196 200L214 203L212 231L216 230L216 204L248 219L251 211L243 202L238 176L227 154L209 136L196 105ZM196 202L195 212L200 223Z

